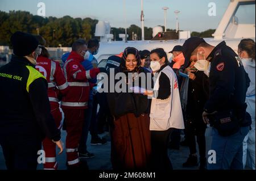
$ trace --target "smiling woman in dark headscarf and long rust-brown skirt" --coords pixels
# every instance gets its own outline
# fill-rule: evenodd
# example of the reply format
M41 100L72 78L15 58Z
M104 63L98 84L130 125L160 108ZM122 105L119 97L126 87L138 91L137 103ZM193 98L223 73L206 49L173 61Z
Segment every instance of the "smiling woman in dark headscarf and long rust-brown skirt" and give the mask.
M112 71L113 69L110 69L110 75ZM140 87L146 89L142 86L142 81L146 80L140 77L143 74L146 76L146 73L147 71L141 67L139 51L133 47L126 48L121 64L114 69L114 75L122 74L122 79L115 79L116 89L114 92L106 93L110 113L113 116L110 132L114 170L150 169L151 144L148 115L150 102L146 95L129 91L137 81L141 83ZM151 73L148 74L151 78ZM113 78L109 76L109 81L110 79ZM120 81L123 83L118 86ZM117 88L122 91L118 91Z

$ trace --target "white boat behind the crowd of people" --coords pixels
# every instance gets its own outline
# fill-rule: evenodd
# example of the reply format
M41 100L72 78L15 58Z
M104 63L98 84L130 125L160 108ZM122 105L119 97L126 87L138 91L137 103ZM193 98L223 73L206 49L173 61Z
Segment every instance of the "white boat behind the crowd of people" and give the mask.
M251 38L255 41L255 23L240 24L239 19L235 16L239 7L245 5L255 5L255 0L230 0L228 8L218 24L216 31L213 33L213 37L205 38L205 41L213 46L217 45L221 41L226 41L226 44L235 52L237 52L237 46L241 39ZM154 28L153 31L154 30L159 30L159 28ZM121 37L123 38L123 41L112 41L113 35L109 33L109 23L102 21L98 22L95 35L101 37L101 42L99 52L95 57L98 62L100 62L99 66L104 66L109 56L119 54L126 47L135 47L138 50L163 48L166 52L170 52L175 45L183 45L184 41L190 37L189 31L180 31L179 39L177 40L125 41L125 36L122 34ZM171 60L170 53L168 53L168 58Z

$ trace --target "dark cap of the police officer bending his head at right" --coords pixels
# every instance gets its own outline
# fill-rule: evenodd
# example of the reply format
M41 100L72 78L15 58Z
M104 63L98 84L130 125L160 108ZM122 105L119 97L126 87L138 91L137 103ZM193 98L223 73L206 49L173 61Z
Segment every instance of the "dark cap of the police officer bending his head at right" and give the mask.
M185 43L182 46L182 52L185 57L185 63L183 65L183 68L187 68L189 66L190 57L193 52L201 43L205 43L204 39L201 37L192 36L189 39L185 41Z

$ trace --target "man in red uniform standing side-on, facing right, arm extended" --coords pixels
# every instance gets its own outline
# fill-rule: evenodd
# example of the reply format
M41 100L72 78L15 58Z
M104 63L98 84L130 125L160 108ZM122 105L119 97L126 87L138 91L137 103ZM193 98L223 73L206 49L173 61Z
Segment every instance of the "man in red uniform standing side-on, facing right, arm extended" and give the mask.
M61 101L61 108L65 116L67 130L66 152L68 169L86 167L80 163L78 157L78 146L84 123L84 110L88 108L90 84L88 79L96 78L100 73L99 68L85 70L81 62L87 60L86 41L79 39L72 45L72 52L63 66L65 78L70 91Z

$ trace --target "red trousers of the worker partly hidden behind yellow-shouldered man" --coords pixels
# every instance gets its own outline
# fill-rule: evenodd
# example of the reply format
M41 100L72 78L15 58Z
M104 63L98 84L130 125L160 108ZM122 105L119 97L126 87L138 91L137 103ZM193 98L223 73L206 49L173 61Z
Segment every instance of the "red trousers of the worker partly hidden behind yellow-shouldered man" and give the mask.
M51 104L51 108L52 108ZM55 106L55 109L51 110L52 116L55 120L56 127L60 129L62 115L60 112L60 108ZM45 138L43 140L43 148L46 153L46 163L44 163L45 170L56 170L57 169L57 161L56 161L56 145L49 138Z

